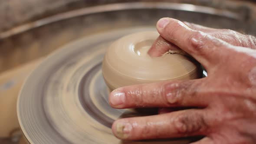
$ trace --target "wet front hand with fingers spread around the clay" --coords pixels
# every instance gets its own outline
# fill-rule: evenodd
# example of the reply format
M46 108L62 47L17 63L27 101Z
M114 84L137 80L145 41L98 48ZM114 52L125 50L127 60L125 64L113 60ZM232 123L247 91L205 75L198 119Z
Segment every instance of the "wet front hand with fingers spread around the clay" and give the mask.
M161 19L157 28L164 39L197 59L208 77L118 88L109 102L114 108L197 108L117 120L112 125L115 136L138 140L205 135L194 144L256 144L256 50L171 18Z

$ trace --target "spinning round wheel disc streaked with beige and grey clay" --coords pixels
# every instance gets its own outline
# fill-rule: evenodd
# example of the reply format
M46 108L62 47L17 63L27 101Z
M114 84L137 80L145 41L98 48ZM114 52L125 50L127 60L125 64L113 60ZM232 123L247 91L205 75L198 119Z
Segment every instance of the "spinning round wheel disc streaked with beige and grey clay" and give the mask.
M135 27L85 37L48 56L26 80L18 99L18 118L27 140L31 144L121 143L112 134L112 122L137 113L109 106L102 59L112 41L154 29ZM189 142L172 141L171 144Z

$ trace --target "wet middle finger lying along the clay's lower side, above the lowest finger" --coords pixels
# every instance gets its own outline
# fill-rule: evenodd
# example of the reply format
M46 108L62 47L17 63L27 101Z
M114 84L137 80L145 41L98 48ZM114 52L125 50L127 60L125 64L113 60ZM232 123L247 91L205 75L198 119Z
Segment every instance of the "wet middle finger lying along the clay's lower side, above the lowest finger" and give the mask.
M210 98L201 96L206 92L203 79L121 87L110 94L109 103L113 108L205 107Z

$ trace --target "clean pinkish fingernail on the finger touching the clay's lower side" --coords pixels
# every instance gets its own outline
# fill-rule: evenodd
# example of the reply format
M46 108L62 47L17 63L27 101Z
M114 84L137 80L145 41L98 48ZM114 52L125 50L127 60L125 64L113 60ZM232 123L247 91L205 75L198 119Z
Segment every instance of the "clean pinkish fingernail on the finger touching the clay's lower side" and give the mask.
M120 91L114 91L110 95L110 103L112 105L121 105L125 102L125 93Z

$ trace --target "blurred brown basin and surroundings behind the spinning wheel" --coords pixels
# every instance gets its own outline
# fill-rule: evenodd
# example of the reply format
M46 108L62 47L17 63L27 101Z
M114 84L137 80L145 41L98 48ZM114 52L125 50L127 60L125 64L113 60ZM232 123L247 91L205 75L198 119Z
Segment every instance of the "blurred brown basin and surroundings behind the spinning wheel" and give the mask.
M25 144L16 100L49 53L84 36L161 17L256 34L255 0L0 0L0 144Z

